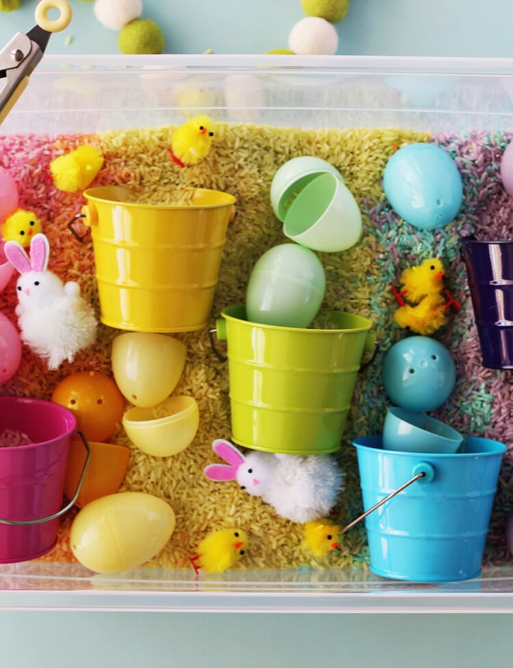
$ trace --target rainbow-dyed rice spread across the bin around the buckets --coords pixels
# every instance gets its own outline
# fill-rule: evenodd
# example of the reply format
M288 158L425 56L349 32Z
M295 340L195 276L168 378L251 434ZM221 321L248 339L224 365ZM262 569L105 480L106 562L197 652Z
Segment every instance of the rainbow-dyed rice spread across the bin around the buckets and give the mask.
M473 311L460 260L458 232L468 230L483 238L511 238L509 219L513 199L499 180L499 162L509 136L500 132L469 135L428 134L403 129L307 130L277 129L264 125L220 123L211 156L197 166L181 169L170 160L168 147L173 126L113 131L94 136L4 136L0 137L1 164L16 178L20 206L32 209L43 221L51 243L50 268L63 280L78 280L83 293L98 301L94 280L94 255L90 236L82 244L67 230L85 200L81 194L56 190L48 165L56 156L82 143L96 143L105 155L105 166L93 186L125 184L139 201L161 203L170 193L181 197L194 187L215 188L237 198L238 215L228 228L212 322L225 306L244 302L248 276L261 254L284 243L281 225L269 202L269 187L278 167L295 156L313 155L336 166L363 212L365 234L344 253L319 253L328 282L324 307L347 310L373 321L382 349L405 334L393 324L397 307L391 284L399 273L424 258L443 258L448 287L463 308L453 314L444 330L436 332L456 360L458 382L447 404L436 417L454 428L503 441L506 454L499 493L490 525L486 561L500 564L511 559L505 545L505 516L512 506L513 407L510 371L483 369ZM464 205L456 221L434 230L417 230L398 219L382 190L386 161L397 148L416 141L431 141L449 151L464 182ZM84 230L86 232L86 230ZM11 284L1 298L1 309L14 320L16 295ZM118 330L101 325L98 344L55 372L49 372L28 349L18 373L3 386L3 392L49 399L53 388L66 375L83 369L111 374L109 350ZM363 523L345 535L340 551L313 558L301 547L300 525L277 517L260 499L239 490L235 483L214 483L202 469L215 461L214 438L229 438L228 374L226 364L216 358L207 331L176 334L187 345L187 364L175 393L192 395L198 401L200 428L190 445L171 458L153 458L132 447L132 456L122 489L144 491L162 497L176 512L176 530L168 545L151 562L168 569L189 569L189 556L208 532L227 526L244 528L250 534L250 551L237 569L292 569L313 567L367 567L367 545ZM333 521L351 521L361 508L355 436L380 432L389 401L380 382L378 358L360 375L354 391L340 452L346 471L346 490L334 510ZM113 442L131 445L119 428ZM74 512L62 521L57 547L44 557L51 561L73 561L68 532Z

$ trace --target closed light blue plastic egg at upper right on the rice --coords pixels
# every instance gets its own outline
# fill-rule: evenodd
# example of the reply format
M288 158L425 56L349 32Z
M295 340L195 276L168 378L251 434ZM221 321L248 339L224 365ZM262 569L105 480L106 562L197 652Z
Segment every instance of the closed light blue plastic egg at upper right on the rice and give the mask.
M432 144L410 144L396 151L386 163L383 188L397 214L423 230L450 223L463 200L456 163Z

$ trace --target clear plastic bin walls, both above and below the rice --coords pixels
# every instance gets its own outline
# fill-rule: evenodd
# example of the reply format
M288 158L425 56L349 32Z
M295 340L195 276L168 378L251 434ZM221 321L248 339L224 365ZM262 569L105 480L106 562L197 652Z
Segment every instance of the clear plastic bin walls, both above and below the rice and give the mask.
M45 57L0 134L182 123L185 112L278 127L513 129L513 60L253 56ZM0 608L512 611L510 569L455 585L366 571L226 573L69 564L0 567Z

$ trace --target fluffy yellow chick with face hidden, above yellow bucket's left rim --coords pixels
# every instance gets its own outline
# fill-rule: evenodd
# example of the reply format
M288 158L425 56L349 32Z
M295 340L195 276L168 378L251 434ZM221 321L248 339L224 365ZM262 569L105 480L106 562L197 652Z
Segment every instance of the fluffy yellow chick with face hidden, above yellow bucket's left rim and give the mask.
M103 160L101 149L92 144L84 144L71 153L55 158L50 163L55 188L64 193L84 190L101 170Z

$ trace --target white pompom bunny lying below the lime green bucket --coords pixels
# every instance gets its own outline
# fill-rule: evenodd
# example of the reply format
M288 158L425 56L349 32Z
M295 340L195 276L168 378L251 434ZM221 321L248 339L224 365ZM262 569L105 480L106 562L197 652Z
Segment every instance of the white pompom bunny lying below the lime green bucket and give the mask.
M344 475L331 455L286 455L251 451L244 455L218 438L213 450L228 464L209 464L209 480L237 480L252 496L273 506L281 517L304 523L324 517L343 490Z

